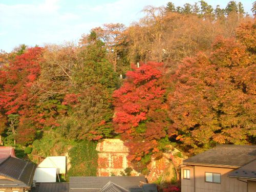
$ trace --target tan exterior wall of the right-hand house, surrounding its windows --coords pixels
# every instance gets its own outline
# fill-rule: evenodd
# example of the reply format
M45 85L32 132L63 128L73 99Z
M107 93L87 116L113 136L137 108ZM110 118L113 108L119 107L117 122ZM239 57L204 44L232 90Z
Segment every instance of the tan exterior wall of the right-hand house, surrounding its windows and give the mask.
M190 170L191 181L187 181L186 179L183 179L183 169L188 168L183 167L181 170L182 192L247 192L247 184L245 182L227 176L229 172L234 170L232 168L195 166L195 181L193 175L194 170ZM205 182L205 172L220 173L221 183ZM194 182L195 188L193 188Z

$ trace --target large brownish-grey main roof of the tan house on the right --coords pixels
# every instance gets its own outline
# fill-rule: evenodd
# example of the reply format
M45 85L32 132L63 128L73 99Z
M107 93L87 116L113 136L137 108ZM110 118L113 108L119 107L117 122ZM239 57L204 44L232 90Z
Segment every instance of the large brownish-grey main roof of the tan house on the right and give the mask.
M183 161L184 164L244 166L256 159L256 145L217 145Z

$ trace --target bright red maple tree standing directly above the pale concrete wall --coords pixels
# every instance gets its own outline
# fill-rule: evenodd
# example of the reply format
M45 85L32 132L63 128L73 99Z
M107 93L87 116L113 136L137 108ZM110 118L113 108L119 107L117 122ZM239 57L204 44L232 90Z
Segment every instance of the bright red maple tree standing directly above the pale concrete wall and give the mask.
M130 148L129 159L140 161L148 153L159 152L158 141L170 130L163 63L140 63L132 69L113 94L114 124Z

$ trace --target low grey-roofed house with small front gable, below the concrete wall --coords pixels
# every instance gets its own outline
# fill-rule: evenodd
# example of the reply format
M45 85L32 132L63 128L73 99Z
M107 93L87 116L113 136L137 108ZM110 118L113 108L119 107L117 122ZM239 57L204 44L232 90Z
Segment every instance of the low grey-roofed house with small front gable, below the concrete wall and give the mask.
M70 177L69 192L157 192L142 176Z

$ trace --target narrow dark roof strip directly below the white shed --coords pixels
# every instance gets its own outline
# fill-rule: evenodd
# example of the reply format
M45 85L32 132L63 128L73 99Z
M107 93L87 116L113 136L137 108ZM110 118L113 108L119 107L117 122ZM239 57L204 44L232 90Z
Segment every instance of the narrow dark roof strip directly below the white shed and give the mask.
M32 192L69 192L69 183L36 183Z

